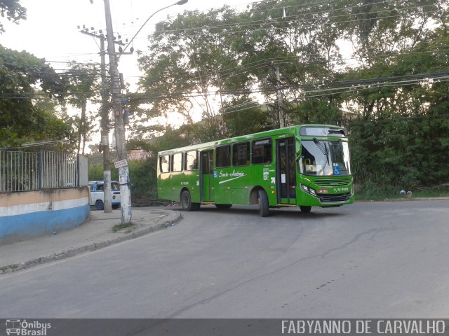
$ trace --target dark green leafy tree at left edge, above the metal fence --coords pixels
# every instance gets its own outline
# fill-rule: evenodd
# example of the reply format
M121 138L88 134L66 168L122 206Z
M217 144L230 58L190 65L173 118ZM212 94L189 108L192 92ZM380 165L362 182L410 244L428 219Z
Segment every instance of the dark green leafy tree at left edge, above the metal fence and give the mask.
M36 104L59 102L64 91L60 76L43 59L0 45L0 146L69 139L70 125L53 107Z

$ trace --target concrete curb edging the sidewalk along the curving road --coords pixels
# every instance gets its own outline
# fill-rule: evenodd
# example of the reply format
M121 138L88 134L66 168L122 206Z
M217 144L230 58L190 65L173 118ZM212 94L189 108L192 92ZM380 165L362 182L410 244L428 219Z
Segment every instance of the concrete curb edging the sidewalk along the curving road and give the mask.
M91 243L91 244L88 244L85 246L70 248L67 251L54 253L52 255L44 255L43 257L40 257L40 258L34 258L32 260L21 262L20 264L0 266L0 275L17 272L22 269L28 269L28 268L31 268L31 267L34 267L37 265L45 264L46 262L62 260L65 258L73 257L74 255L79 255L81 253L97 251L97 250L100 250L101 248L111 246L112 244L120 243L121 241L126 241L126 240L130 240L130 239L142 237L144 235L148 235L149 233L163 230L163 229L169 228L170 226L174 226L177 222L180 221L181 218L182 218L182 216L181 216L180 212L170 210L170 212L168 212L168 215L164 216L163 218L160 218L158 221L156 221L155 225L150 225L147 228L135 230L133 232L127 233L126 235L122 235L120 237L116 237L114 239L98 241L98 242L94 242L94 243Z

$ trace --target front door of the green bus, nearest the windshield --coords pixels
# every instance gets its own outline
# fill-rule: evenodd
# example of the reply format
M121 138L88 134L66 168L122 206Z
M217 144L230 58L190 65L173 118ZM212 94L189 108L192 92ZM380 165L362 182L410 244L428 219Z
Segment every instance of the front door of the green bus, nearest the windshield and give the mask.
M276 140L278 204L296 204L295 139Z

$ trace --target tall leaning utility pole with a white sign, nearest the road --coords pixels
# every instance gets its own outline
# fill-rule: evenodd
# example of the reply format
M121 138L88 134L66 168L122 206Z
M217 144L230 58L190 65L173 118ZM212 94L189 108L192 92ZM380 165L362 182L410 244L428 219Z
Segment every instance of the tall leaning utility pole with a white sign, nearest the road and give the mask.
M112 111L114 111L115 138L117 156L119 158L119 183L121 223L130 223L133 217L131 212L131 193L129 188L128 153L126 152L125 124L123 123L123 105L120 92L120 76L117 64L117 55L114 45L114 30L112 29L111 6L109 0L105 1L105 19L107 31L107 52L109 55L109 76L111 77Z

